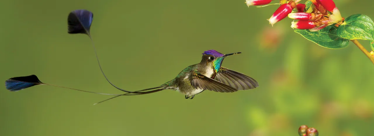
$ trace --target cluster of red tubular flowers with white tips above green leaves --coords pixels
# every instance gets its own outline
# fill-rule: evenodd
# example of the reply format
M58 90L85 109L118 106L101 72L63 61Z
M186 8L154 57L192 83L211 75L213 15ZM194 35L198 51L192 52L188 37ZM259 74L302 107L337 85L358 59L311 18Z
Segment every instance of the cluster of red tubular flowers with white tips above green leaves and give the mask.
M265 5L272 0L246 0L247 6ZM335 24L340 25L344 18L341 17L340 11L332 0L308 0L313 3L312 10L306 9L306 4L298 3L301 0L280 0L281 6L267 19L269 23L274 25L276 22L286 18L297 19L292 22L291 28L309 29L315 32L325 28L326 26Z

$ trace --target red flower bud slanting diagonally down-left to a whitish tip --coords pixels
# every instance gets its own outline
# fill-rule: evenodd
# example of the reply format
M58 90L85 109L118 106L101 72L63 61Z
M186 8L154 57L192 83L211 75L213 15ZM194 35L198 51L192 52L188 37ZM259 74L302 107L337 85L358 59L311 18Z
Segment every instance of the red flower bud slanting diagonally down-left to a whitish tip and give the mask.
M280 20L287 17L289 13L292 12L292 9L295 9L296 3L291 0L289 3L283 4L280 7L278 7L277 10L273 13L273 15L267 19L269 20L269 23L274 25L276 22L279 22Z

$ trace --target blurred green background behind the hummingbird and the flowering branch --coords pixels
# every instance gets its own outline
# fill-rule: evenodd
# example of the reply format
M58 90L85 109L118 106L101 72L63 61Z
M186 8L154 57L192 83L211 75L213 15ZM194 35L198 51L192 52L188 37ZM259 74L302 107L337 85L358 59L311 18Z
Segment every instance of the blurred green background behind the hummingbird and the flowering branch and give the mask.
M75 9L93 12L102 67L117 86L161 85L201 53L241 51L223 66L260 87L204 91L192 100L166 90L116 98L53 86L0 91L0 136L297 136L306 124L320 136L370 136L374 66L354 45L320 47L268 19L278 6L244 0L2 1L1 80L35 74L50 84L122 93L102 76L91 41L67 33ZM276 3L277 1L273 1ZM303 1L305 2L305 0ZM337 0L342 16L374 18L371 0ZM368 41L361 41L369 50Z

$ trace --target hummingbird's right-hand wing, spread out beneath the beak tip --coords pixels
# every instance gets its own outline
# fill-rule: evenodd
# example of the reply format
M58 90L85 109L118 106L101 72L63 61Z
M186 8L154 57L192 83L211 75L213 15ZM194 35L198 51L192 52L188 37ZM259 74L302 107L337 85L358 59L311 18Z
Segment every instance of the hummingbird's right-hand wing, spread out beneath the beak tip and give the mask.
M218 70L214 79L238 90L248 90L258 87L255 79L225 67L221 67Z

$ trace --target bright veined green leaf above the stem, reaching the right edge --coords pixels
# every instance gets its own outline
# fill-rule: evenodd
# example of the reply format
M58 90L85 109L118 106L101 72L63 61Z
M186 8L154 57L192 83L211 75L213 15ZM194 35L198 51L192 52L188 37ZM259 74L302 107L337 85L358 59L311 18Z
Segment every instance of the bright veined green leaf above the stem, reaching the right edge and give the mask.
M345 39L364 39L374 41L374 23L368 16L355 14L349 16L338 27L337 34Z

